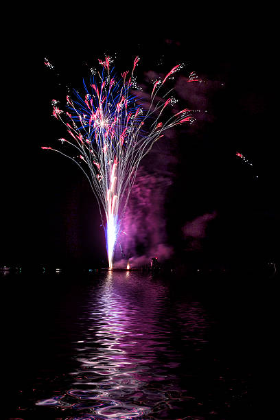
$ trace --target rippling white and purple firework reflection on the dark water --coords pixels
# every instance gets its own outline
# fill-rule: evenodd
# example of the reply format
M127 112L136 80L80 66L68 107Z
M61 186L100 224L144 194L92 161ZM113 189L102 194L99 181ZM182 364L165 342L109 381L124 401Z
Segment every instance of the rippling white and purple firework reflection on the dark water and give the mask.
M71 388L36 405L58 408L65 419L183 418L196 398L182 363L207 345L208 325L200 303L172 301L161 281L108 272L79 320Z

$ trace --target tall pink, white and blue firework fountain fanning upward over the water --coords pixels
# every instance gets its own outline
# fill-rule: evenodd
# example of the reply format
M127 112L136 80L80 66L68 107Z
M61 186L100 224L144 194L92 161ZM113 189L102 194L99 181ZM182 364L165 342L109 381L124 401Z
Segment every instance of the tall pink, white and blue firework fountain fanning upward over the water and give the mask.
M161 119L172 99L168 97L163 100L157 95L167 79L181 68L180 65L167 73L163 81L154 82L150 106L144 112L138 104L139 98L131 93L135 88L133 74L139 57L135 58L131 73L122 73L120 80L117 80L113 70L110 71L111 61L110 57L106 57L103 62L99 60L103 67L102 72L98 73L100 80L92 76L91 89L84 82L84 98L77 91L74 91L73 100L67 96L66 112L58 108L58 101L52 102L54 117L65 124L71 136L70 140L60 141L78 150L78 156L73 158L60 150L43 147L69 157L86 174L97 198L101 217L102 208L106 216L109 268L113 267L117 235L139 162L155 141L163 137L165 130L194 120L189 109L181 110L166 121ZM169 93L162 97L165 98ZM80 162L75 160L77 158ZM89 174L82 167L84 164ZM103 217L102 224L104 226Z

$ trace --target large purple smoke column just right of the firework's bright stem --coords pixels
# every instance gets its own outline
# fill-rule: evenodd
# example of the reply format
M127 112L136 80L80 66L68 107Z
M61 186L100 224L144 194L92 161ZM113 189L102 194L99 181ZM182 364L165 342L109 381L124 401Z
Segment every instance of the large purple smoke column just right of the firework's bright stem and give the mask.
M165 165L161 165L161 170L155 167L152 174L145 167L139 168L117 241L117 266L126 265L128 258L132 266L141 266L152 257L162 262L172 256L165 217L166 194L172 178Z

